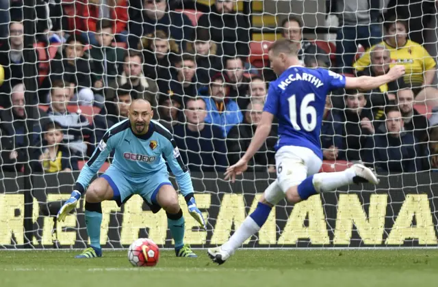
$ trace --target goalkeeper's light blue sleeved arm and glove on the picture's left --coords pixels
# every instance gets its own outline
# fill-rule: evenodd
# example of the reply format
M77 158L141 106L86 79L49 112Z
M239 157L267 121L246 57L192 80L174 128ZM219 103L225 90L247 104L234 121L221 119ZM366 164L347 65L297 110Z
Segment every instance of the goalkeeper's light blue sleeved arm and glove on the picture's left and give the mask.
M101 168L108 155L110 155L110 152L113 149L113 141L114 139L111 137L110 131L107 131L96 150L94 150L90 160L86 163L86 165L83 166L70 198L64 203L60 211L57 213L58 221L64 221L66 216L76 208L77 202L79 202L81 195L85 193L88 184L90 184L90 180Z

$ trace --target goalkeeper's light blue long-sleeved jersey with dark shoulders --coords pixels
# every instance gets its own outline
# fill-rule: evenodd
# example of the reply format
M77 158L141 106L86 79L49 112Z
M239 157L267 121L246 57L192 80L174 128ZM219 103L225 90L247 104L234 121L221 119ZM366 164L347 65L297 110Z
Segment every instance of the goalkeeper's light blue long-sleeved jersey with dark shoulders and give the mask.
M113 150L112 167L134 184L145 182L157 172L167 171L167 161L177 179L181 193L183 195L193 193L190 173L181 159L172 134L154 120L151 120L149 131L144 135L135 135L129 120L124 120L108 129L90 161L84 165L79 174L77 183L81 184L83 189L88 187L94 174Z

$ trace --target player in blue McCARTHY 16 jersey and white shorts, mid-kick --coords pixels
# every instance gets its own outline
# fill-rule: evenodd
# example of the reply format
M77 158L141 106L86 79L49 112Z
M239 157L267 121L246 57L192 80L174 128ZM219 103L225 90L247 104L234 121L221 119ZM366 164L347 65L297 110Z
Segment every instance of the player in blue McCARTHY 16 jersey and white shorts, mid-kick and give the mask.
M320 131L326 95L337 88L372 90L395 81L404 74L404 66L394 66L379 77L344 77L324 68L299 66L298 48L289 40L278 40L270 46L271 68L279 78L270 83L261 122L242 159L225 172L225 179L245 172L247 163L266 141L272 120L279 120L279 140L276 143L277 178L261 196L251 213L229 241L208 249L211 260L224 263L244 241L256 234L280 200L295 204L311 195L334 191L344 185L379 180L371 169L360 164L344 172L319 173L322 165Z

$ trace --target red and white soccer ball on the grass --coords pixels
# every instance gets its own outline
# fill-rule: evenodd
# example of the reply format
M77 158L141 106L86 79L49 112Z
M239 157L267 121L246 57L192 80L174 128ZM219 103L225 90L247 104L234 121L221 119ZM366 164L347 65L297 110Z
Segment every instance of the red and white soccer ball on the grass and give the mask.
M151 267L158 263L159 248L148 238L139 238L128 249L128 260L135 267Z

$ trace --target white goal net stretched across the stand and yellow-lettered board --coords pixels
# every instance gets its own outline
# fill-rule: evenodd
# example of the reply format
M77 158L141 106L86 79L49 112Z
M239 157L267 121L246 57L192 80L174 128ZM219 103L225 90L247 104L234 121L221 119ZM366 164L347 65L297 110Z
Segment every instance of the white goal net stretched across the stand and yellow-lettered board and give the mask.
M281 38L300 44L298 58L309 68L358 77L401 64L407 74L371 91L335 90L318 115L321 171L362 162L381 183L294 206L283 200L244 247L436 247L435 1L342 2L1 1L0 247L89 244L85 200L65 222L56 214L105 131L127 118L136 98L149 100L155 124L172 133L207 219L207 230L199 229L180 195L185 243L227 241L279 169L275 121L248 171L235 183L223 174L257 129L276 79L268 48ZM123 147L130 159L155 160L130 150L129 139ZM166 213L154 214L139 195L121 206L103 202L102 210L102 247L146 237L172 247Z

